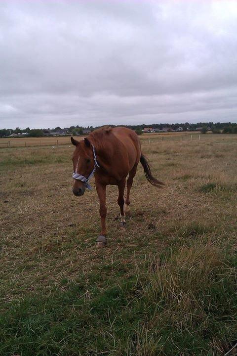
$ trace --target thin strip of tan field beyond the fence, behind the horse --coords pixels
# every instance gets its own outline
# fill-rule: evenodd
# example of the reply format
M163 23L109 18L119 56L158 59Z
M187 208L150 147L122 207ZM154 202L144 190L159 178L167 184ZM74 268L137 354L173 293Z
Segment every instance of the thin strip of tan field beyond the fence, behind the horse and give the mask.
M157 134L142 134L140 136L141 139L146 138L157 138L157 137L177 137L181 135L191 135L191 134L198 134L197 132L190 133L157 133ZM82 139L85 136L74 136L77 139ZM56 146L56 145L66 145L71 144L70 136L58 136L58 137L12 137L12 138L0 138L0 148L8 147L10 142L10 147L28 147L28 146Z

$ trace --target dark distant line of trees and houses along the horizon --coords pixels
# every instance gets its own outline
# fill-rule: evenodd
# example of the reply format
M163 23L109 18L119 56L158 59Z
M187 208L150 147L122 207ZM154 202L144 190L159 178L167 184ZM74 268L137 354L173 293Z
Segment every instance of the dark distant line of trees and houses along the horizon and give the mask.
M116 127L116 125L110 125L111 127ZM153 128L153 129L168 129L170 131L175 131L179 127L182 127L183 131L196 131L197 128L201 128L201 132L204 134L205 132L210 129L213 134L237 134L237 124L233 123L216 123L213 124L213 122L199 122L196 124L189 124L186 122L185 124L142 124L142 125L122 125L124 127L127 127L129 129L132 129L136 131L137 134L141 134L142 130L145 128ZM95 129L98 129L99 127L93 128L93 126L87 126L87 127L81 127L81 126L70 126L70 128L64 128L64 130L67 130L69 134L73 135L82 135L85 132L91 132ZM0 137L7 137L10 134L23 134L27 133L28 137L41 137L45 135L50 135L51 132L57 132L58 130L62 130L59 126L57 126L55 129L30 129L27 127L26 129L20 129L17 127L15 130L12 129L1 129L0 130Z

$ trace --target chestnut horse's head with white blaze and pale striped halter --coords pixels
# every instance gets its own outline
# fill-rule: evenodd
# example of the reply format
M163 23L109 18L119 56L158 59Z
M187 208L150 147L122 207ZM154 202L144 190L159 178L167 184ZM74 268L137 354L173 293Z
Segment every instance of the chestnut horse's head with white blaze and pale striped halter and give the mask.
M87 178L90 178L94 170L93 150L90 141L84 138L77 141L71 137L72 144L75 146L73 153L73 193L81 196L88 185Z

